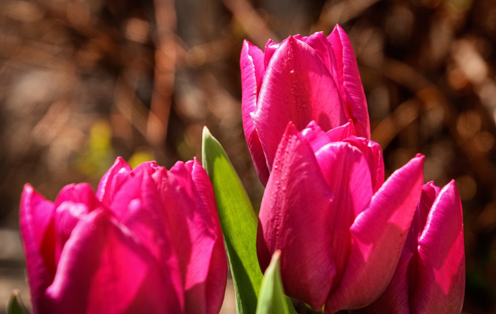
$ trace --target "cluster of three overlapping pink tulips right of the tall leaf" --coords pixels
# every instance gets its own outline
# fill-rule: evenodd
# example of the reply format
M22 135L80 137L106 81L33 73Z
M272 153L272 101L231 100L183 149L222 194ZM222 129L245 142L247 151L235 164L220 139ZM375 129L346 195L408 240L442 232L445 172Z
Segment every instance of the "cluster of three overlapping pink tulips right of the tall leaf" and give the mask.
M458 191L423 188L422 155L384 182L342 28L269 41L263 52L245 42L241 69L245 136L266 185L261 268L281 251L286 293L325 313L460 313Z

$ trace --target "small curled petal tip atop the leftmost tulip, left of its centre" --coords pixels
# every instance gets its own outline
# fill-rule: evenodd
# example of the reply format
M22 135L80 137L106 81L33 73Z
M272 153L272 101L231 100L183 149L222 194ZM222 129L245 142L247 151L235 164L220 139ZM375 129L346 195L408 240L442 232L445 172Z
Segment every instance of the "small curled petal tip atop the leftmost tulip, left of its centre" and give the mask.
M113 194L122 185L122 180L118 180L117 177L122 177L122 174L127 174L131 172L131 167L124 161L122 157L117 157L114 165L103 175L98 188L96 190L96 197L106 206L109 206L112 202ZM124 178L127 178L125 176Z

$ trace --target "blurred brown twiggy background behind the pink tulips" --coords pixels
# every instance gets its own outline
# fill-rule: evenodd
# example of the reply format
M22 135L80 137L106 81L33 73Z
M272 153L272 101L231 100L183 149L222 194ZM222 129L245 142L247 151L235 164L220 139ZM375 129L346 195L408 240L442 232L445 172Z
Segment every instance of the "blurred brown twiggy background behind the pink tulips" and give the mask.
M494 0L0 0L0 313L29 293L18 203L131 165L200 158L219 139L258 207L241 121L239 56L336 23L348 33L386 175L415 153L456 179L464 207L463 313L496 313ZM223 313L235 313L232 290Z

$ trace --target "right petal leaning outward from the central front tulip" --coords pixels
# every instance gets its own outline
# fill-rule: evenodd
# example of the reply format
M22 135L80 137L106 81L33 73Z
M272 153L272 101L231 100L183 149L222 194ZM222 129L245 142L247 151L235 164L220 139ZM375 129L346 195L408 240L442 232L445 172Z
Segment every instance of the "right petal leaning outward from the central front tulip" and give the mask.
M424 157L417 156L395 171L355 219L349 262L325 313L363 308L386 288L420 199L423 163Z

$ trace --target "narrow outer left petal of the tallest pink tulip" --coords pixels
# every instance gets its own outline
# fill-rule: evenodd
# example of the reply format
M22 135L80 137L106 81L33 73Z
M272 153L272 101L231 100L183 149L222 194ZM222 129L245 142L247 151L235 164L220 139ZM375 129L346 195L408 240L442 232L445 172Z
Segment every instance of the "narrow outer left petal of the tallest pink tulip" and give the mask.
M253 165L263 185L267 183L269 171L263 154L262 146L255 131L250 114L256 111L256 101L263 76L263 52L253 44L245 41L241 51L241 86L243 129L247 140Z

